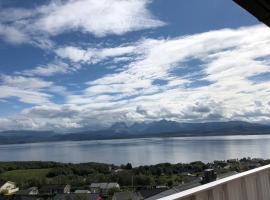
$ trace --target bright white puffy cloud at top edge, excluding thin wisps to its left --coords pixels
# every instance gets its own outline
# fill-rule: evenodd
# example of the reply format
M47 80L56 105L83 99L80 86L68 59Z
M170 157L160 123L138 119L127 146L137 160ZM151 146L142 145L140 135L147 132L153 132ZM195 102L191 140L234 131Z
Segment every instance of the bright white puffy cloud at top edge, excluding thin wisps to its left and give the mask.
M100 37L164 25L151 15L148 3L147 0L70 0L51 6L35 25L53 35L81 29Z

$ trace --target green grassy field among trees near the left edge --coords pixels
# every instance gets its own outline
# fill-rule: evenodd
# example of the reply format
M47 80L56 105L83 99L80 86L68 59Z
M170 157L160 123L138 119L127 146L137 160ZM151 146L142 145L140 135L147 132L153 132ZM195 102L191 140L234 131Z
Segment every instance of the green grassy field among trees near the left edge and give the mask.
M12 170L0 174L0 179L22 183L33 179L45 179L51 169Z

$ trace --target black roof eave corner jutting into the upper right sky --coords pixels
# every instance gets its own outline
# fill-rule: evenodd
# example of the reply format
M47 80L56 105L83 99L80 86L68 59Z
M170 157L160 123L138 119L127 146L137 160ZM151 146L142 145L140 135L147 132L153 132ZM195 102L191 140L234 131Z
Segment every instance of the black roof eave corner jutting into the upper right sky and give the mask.
M269 0L234 0L245 10L254 15L259 21L270 27Z

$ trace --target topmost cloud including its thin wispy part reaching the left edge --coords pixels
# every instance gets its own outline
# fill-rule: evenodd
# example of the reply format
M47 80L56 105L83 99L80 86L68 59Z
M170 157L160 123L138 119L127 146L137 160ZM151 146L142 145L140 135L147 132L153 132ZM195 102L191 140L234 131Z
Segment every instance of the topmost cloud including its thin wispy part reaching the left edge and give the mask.
M165 23L147 8L149 0L51 0L32 9L5 8L0 37L14 44L52 48L50 36L79 31L97 37L156 28Z

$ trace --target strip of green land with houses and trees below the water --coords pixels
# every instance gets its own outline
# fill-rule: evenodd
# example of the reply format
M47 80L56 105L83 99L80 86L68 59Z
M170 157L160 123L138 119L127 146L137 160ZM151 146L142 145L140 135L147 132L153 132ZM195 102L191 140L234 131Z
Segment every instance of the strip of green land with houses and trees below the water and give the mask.
M130 163L0 162L0 200L154 200L269 163L242 158L133 168Z

